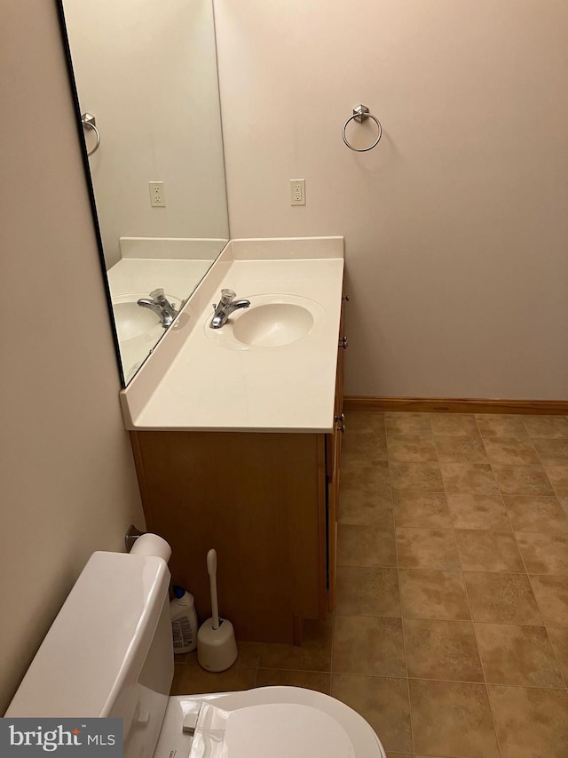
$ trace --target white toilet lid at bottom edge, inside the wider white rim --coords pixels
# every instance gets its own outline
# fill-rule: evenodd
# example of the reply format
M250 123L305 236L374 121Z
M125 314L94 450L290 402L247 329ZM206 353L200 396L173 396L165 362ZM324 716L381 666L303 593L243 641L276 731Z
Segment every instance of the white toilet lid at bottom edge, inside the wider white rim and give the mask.
M266 703L226 711L203 703L189 758L355 758L337 720L299 703Z

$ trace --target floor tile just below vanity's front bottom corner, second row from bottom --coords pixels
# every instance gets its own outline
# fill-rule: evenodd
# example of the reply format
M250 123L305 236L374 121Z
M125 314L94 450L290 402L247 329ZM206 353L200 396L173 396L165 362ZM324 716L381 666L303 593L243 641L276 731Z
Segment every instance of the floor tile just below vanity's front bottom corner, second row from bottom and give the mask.
M400 618L336 616L335 674L406 676Z

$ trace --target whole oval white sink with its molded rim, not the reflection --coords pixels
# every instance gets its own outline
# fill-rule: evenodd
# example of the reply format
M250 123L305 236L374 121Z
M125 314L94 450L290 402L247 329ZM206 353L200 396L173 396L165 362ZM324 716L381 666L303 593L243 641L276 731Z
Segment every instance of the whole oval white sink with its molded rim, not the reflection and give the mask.
M247 299L250 307L235 311L221 329L209 327L208 315L207 337L233 350L284 347L304 339L325 320L319 303L298 295L251 295Z

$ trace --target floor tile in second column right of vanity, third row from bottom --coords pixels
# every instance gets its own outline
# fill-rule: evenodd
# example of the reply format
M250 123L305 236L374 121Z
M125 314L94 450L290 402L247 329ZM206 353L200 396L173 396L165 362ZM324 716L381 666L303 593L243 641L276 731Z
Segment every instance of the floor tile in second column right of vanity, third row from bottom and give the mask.
M405 618L469 619L460 571L399 571Z

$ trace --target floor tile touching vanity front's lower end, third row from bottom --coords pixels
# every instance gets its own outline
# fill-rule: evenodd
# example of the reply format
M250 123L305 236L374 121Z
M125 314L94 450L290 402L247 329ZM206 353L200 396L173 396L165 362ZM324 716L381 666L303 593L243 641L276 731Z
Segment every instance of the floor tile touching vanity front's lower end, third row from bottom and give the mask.
M398 571L337 566L335 612L343 616L400 617Z

